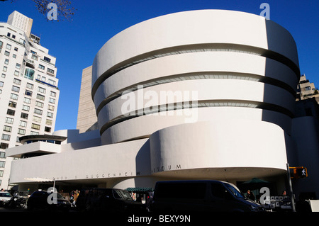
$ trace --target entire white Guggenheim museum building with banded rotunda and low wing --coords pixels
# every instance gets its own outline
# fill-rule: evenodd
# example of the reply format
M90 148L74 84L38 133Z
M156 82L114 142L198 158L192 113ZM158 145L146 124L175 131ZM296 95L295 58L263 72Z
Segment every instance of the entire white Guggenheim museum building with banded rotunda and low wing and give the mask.
M11 181L128 188L257 177L284 190L299 77L291 34L264 17L200 10L138 23L92 64L99 130L55 132L67 140L13 162Z

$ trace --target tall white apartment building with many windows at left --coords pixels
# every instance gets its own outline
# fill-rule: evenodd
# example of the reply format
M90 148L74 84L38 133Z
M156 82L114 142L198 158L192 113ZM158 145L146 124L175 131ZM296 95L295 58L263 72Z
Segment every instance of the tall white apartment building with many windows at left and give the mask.
M33 20L17 11L0 23L0 188L7 189L12 158L6 149L23 135L55 130L57 89L55 57L30 33Z

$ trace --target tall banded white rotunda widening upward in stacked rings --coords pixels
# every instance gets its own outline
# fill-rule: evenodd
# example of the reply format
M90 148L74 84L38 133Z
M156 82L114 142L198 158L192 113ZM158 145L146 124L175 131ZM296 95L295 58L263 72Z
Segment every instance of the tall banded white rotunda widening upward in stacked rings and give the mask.
M237 11L186 11L139 23L103 45L92 98L105 145L150 137L187 116L240 119L237 111L289 133L298 77L296 43L276 23Z

